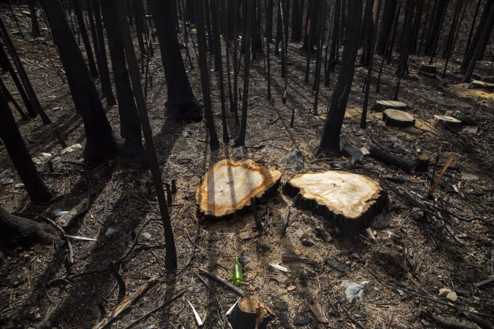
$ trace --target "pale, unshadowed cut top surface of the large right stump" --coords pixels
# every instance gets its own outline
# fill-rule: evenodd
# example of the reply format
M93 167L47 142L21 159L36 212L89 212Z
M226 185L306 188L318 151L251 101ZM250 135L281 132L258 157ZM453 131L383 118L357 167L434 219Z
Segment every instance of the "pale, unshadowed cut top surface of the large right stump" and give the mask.
M317 204L350 220L361 217L382 191L375 180L337 171L300 174L288 184L300 189L304 198L316 200Z

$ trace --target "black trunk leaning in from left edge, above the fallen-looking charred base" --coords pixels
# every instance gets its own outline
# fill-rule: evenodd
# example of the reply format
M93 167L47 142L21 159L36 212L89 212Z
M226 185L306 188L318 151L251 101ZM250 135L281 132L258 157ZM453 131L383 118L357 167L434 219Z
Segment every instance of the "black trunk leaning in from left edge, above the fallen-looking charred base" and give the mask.
M53 195L34 167L3 92L0 92L0 137L32 202L42 204L51 200Z

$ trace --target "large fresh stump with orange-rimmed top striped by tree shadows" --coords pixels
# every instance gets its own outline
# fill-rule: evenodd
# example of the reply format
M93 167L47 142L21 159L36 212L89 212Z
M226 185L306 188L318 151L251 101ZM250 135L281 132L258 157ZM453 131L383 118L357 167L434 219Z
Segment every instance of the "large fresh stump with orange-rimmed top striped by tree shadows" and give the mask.
M279 186L281 172L251 159L223 159L202 177L196 190L199 211L206 216L223 217L251 204L263 203Z

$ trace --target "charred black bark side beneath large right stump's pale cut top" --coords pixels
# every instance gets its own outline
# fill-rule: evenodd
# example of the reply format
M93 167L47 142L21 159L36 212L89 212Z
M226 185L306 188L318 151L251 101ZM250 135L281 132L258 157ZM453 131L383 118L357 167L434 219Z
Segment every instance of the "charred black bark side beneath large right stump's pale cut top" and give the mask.
M292 198L297 198L298 202L294 202L293 206L302 210L310 210L313 215L322 216L330 221L334 227L338 227L347 232L358 232L369 225L375 216L385 212L389 212L389 197L387 191L382 190L375 202L369 205L369 208L362 213L359 218L347 218L342 214L336 214L325 205L320 205L316 200L306 199L300 194L300 189L292 186L287 182L283 186L283 192Z

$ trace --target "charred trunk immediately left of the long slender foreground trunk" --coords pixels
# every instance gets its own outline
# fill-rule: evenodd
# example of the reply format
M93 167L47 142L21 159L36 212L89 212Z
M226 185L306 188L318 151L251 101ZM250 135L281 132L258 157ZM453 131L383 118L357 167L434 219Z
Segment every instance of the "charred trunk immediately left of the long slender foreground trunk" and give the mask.
M125 139L123 148L131 154L139 154L143 151L139 114L132 94L122 36L114 24L117 17L109 1L101 1L101 12L104 25L107 28L108 48L110 49L113 77L115 78L120 134Z

